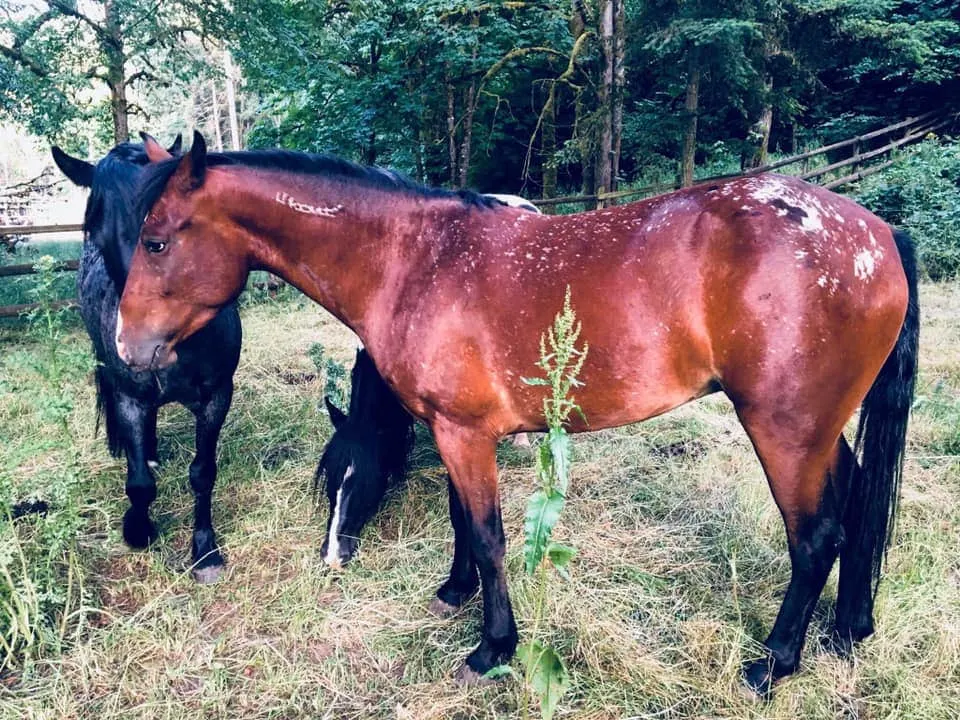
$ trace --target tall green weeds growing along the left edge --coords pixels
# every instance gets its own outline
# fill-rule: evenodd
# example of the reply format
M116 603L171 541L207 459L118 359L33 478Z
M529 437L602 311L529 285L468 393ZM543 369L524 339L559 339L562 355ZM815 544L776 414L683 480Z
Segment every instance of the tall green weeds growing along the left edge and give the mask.
M70 426L73 388L93 369L92 358L67 342L66 315L55 303L57 261L43 256L36 265L33 292L38 303L28 315L27 336L36 353L11 353L3 359L7 377L0 397L18 396L47 431L9 442L0 464L0 672L26 667L44 650L58 651L66 633L80 620L71 610L84 600L82 571L76 562L76 535L83 523L81 468ZM18 487L17 467L43 453L59 462L42 486ZM16 501L42 500L42 516L11 519ZM77 627L79 627L77 625Z

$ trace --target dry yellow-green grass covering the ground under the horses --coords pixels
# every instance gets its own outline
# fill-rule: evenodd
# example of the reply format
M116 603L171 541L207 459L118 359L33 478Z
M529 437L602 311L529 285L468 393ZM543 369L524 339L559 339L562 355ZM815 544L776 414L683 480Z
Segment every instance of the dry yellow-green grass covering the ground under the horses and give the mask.
M740 666L773 622L789 562L759 463L729 404L714 396L575 439L555 538L579 552L572 580L551 586L542 638L571 675L558 717L960 716L960 285L926 285L922 303L897 542L877 634L855 662L820 647L834 577L801 672L770 703L741 694ZM25 597L29 577L53 595L36 602L50 620L37 623L27 660L0 673L0 718L515 717L517 683L465 690L451 681L478 640L479 604L453 620L426 612L452 545L445 474L426 433L406 487L389 494L358 560L329 571L319 555L325 516L309 485L331 428L307 350L320 341L350 363L353 339L295 301L245 308L244 338L214 507L228 570L218 584L197 586L187 568L189 414L161 413L154 514L162 537L131 552L119 535L124 465L93 436L89 377L66 375L67 422L51 424L48 389L31 369L44 349L0 328L0 499L41 497L53 508L0 528L0 567L17 570L16 547L29 565L14 596ZM63 345L80 352L87 340L73 329ZM535 602L523 571L523 513L535 478L523 451L504 446L500 460L523 639ZM51 545L64 527L66 540Z

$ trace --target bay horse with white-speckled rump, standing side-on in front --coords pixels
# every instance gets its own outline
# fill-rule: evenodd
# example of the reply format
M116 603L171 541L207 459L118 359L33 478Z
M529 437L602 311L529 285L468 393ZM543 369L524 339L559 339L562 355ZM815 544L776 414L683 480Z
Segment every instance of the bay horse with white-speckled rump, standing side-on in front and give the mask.
M283 151L207 154L196 134L141 188L140 244L117 351L166 367L262 268L346 323L433 432L456 501L440 604L483 598L479 646L457 673L508 661L497 439L544 429L537 339L569 287L590 354L577 389L597 430L710 393L733 402L786 528L791 579L744 668L766 694L794 672L838 555L839 649L873 631L917 368L909 238L851 200L758 175L569 216ZM858 406L854 448L843 428ZM589 425L587 424L589 421ZM858 454L862 464L858 462ZM436 601L435 601L436 602Z

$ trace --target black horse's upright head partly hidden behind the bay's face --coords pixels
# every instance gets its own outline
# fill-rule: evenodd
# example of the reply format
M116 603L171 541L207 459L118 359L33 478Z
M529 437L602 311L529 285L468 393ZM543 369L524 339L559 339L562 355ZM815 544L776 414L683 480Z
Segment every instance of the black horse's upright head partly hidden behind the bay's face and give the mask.
M168 152L180 152L178 135ZM150 162L141 143L121 143L96 165L71 157L59 147L51 148L53 161L71 182L90 188L83 216L83 232L87 242L100 249L107 272L123 292L130 258L137 245L141 218L136 213L136 191L140 173Z

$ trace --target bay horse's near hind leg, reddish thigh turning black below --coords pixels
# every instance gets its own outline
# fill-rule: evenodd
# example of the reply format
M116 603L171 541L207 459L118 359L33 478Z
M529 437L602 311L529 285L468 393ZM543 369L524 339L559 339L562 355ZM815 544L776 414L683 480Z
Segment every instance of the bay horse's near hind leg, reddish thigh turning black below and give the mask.
M783 515L790 549L790 584L764 643L769 656L745 668L747 684L766 695L800 664L814 606L844 542L849 476L839 472L839 429L830 439L815 431L804 437L779 408L737 410Z

